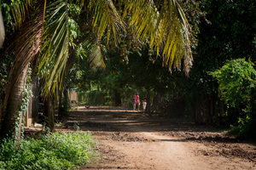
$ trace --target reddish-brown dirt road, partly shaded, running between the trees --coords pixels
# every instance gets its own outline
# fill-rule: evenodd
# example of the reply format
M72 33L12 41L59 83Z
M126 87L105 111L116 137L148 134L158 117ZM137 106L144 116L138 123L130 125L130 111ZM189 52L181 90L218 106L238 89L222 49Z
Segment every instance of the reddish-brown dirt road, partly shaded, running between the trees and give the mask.
M256 145L216 129L110 107L79 107L67 128L98 139L102 153L81 169L256 169Z

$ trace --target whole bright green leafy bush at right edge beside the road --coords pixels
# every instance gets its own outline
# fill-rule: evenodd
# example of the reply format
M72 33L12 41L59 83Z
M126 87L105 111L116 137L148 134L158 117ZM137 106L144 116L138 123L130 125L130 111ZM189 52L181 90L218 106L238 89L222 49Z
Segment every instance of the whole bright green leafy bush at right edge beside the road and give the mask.
M253 63L245 59L230 60L210 75L218 80L218 90L227 105L227 115L236 118L239 133L252 135L255 128L253 122L255 122L256 88L256 71Z

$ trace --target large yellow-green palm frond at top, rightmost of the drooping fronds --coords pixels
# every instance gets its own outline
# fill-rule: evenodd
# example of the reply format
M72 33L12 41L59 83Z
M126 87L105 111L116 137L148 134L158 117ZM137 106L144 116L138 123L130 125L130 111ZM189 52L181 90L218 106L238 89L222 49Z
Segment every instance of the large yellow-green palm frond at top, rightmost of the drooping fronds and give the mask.
M163 65L183 69L186 74L192 65L189 24L176 0L123 1L123 17L129 17L137 38L148 41L156 55L162 55Z

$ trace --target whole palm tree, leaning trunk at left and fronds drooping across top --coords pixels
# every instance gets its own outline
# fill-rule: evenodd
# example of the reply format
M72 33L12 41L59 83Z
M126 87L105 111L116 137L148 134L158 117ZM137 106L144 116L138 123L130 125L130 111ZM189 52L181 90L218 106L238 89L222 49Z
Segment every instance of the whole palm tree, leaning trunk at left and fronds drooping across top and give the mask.
M14 65L9 71L10 86L6 88L3 104L3 111L6 111L7 105L11 105L13 110L3 117L1 134L4 136L10 135L11 129L15 127L19 110L17 105L22 98L28 64L34 61L36 65L39 60L38 68L44 71L44 92L55 92L60 87L69 56L69 44L72 44L67 0L17 2L19 5L11 11L16 30L19 30L15 35L19 36L15 37L14 45L11 46L15 54ZM113 42L118 45L119 34L125 33L125 28L130 27L136 38L148 42L157 57L162 56L163 65L168 66L170 71L172 68L180 69L183 59L184 71L189 72L192 65L189 25L176 0L121 0L115 3L111 0L81 0L75 3L86 11L87 18L82 23L84 30L96 35L93 39L88 36L84 41L94 44L94 49L98 52L102 37L106 37L107 42L113 37ZM47 17L44 24L45 15ZM123 21L124 18L129 20L127 24ZM92 56L95 58L96 53ZM16 100L11 102L11 99Z

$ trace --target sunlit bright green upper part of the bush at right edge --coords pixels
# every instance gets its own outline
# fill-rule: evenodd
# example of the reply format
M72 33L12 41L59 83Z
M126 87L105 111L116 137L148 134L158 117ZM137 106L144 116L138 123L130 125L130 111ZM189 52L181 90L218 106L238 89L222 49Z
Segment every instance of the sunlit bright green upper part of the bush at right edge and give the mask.
M256 85L256 71L251 61L230 60L218 71L210 75L218 80L219 92L226 104L232 107L249 104L252 88Z

